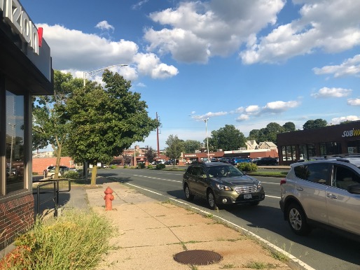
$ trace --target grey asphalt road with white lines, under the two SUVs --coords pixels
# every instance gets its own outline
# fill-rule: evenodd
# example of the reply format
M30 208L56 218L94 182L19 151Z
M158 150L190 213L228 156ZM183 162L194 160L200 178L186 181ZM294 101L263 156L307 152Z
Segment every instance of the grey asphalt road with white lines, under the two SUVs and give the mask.
M359 243L321 229L314 229L310 236L297 236L291 232L279 208L280 178L257 177L263 183L265 200L258 206L231 206L219 211L207 208L205 199L195 197L186 201L182 190L182 175L178 171L148 169L101 169L99 176L119 180L148 197L167 201L169 198L207 211L232 222L282 248L313 269L360 269Z

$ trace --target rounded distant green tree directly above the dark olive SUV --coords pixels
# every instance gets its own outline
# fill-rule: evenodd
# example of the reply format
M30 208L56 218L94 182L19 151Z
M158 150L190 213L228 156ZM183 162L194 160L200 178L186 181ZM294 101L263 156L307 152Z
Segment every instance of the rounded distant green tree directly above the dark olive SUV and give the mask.
M210 141L213 146L216 146L216 149L223 151L235 150L245 146L244 134L234 125L225 125L225 127L213 131L209 143Z

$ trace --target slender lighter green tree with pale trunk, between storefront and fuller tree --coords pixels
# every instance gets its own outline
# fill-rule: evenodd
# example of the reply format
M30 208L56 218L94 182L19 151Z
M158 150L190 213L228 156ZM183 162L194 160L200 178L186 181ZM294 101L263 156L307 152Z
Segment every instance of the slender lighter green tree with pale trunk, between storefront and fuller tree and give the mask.
M69 138L69 121L64 113L69 96L77 87L81 87L82 80L74 79L71 73L54 71L54 94L50 96L34 97L32 137L33 150L51 145L55 153L57 178L62 157L62 150Z

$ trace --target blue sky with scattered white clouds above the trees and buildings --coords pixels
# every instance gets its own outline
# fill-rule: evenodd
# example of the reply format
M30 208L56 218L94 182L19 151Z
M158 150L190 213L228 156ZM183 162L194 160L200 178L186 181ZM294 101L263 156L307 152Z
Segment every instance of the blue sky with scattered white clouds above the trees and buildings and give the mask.
M53 69L100 82L90 71L127 64L110 70L158 114L160 150L170 135L203 142L226 125L249 136L270 122L360 120L360 1L20 3ZM157 150L157 132L134 144Z

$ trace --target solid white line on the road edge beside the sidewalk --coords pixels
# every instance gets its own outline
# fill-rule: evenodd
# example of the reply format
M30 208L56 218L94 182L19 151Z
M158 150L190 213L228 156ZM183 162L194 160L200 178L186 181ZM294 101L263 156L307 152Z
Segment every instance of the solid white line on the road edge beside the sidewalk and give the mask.
M176 201L176 202L179 203L179 204L184 204L184 205L186 205L186 206L189 207L189 208L193 208L193 209L195 209L196 211L199 211L200 213L205 213L205 215L212 215L212 216L214 216L214 217L216 217L216 218L219 218L219 220L222 220L223 222L226 222L226 223L232 225L233 227L237 227L238 229L241 229L242 231L246 232L247 234L249 234L249 235L251 235L251 236L254 236L256 239L258 239L258 241L261 241L261 242L265 243L266 245L270 246L271 248L274 248L275 250L277 250L279 253L282 253L283 255L289 257L293 262L297 262L297 263L300 264L302 267L304 267L304 269L306 269L306 270L315 270L314 268L310 267L310 265L307 265L307 264L305 264L305 262L298 260L298 258L296 258L295 256L293 256L293 255L291 255L290 253L286 252L285 250L282 250L281 248L275 246L274 244L270 243L269 241L266 241L265 239L261 238L261 237L258 236L257 234L254 234L253 232L250 232L249 230L247 230L247 229L245 229L245 228L243 228L243 227L240 227L239 225L236 225L236 224L233 223L233 222L230 222L230 221L228 221L228 220L226 220L226 219L224 219L224 218L221 218L221 217L219 217L218 215L214 215L213 213L209 213L209 212L204 211L204 210L202 210L202 209L200 209L200 208L191 206L190 204L186 204L184 201L179 201L179 200L174 199L174 198L166 197L165 195L162 195L162 194L160 194L160 193L158 193L158 192L154 192L154 191L152 191L152 190L148 190L148 189L146 189L146 188L144 188L144 187L139 187L139 186L137 186L137 185L132 185L132 184L130 184L130 183L125 183L125 182L122 182L122 183L123 183L123 184L126 184L126 185L131 185L132 187L137 187L137 188L139 188L139 189L141 189L141 190L146 190L147 192L151 192L151 193L160 195L160 196L165 197L165 198L167 198L167 199L171 199L171 200L173 200L173 201Z

